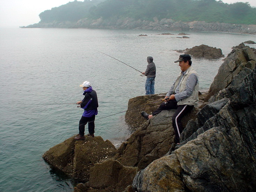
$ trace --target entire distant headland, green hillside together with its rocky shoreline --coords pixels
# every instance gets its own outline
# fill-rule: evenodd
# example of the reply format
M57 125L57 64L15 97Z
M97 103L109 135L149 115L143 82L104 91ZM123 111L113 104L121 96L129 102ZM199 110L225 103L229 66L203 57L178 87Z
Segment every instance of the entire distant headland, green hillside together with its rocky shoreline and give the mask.
M180 8L182 7L182 10ZM256 34L256 8L215 0L73 1L39 14L21 28L143 29Z

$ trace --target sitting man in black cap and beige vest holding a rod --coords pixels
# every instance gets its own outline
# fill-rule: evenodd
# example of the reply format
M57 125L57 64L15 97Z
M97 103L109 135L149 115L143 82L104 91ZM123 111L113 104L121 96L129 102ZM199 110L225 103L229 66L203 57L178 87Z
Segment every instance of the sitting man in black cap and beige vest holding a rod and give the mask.
M163 110L176 109L176 112L172 116L172 125L175 132L174 143L179 145L180 134L183 131L181 118L189 113L194 106L197 106L199 83L197 73L191 67L192 61L190 55L182 54L179 60L174 62L179 62L181 73L165 96L167 102L161 103L152 115L144 111L141 112L141 115L146 119L150 119Z

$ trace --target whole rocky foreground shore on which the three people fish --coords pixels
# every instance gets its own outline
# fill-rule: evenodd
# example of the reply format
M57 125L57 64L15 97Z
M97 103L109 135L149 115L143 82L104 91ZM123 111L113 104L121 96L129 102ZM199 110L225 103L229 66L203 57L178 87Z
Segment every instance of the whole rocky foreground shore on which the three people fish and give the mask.
M74 136L43 158L79 179L75 192L255 191L256 55L240 44L220 66L209 93L182 119L181 144L173 143L172 114L150 120L142 109L126 113L134 130L115 149L100 136ZM164 98L165 93L131 98L128 109ZM159 103L145 106L150 113Z

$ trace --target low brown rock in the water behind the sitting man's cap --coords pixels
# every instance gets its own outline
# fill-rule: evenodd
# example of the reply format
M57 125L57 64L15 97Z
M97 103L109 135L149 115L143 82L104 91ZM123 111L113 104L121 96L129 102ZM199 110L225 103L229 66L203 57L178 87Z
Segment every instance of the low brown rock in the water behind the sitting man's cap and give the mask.
M221 49L209 47L208 45L199 45L190 49L187 48L185 49L185 52L195 58L218 59L220 57L224 57Z

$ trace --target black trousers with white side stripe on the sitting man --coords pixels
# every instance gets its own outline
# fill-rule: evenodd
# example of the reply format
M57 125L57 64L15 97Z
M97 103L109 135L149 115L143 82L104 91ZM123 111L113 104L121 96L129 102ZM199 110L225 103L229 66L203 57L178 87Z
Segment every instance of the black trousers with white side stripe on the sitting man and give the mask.
M155 110L152 115L156 115L163 110L177 109L174 115L172 116L172 126L175 133L174 143L180 143L180 134L183 131L181 124L181 118L189 113L194 106L192 105L177 105L176 100L170 100L168 103L161 103L160 106Z

